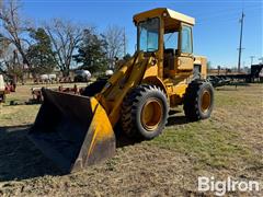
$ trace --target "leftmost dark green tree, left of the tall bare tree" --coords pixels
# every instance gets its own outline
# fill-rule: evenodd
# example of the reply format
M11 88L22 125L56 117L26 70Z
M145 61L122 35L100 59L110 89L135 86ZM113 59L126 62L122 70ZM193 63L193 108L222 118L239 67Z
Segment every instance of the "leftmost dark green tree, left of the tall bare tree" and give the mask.
M28 47L27 59L33 74L50 73L56 67L52 42L44 28L31 30L34 44Z

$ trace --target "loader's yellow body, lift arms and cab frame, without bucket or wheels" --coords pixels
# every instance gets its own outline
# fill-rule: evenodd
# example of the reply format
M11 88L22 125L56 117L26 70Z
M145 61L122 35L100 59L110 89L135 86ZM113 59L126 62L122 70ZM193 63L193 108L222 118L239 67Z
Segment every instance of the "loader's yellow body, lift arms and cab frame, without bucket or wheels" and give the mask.
M180 56L168 59L169 62L171 61L169 68L163 67L164 31L181 28L182 25L192 27L195 20L169 9L155 9L135 15L134 21L137 24L149 18L160 19L159 50L153 55L136 51L116 70L102 92L95 96L107 113L112 126L118 121L123 100L133 88L139 84L156 84L165 92L170 106L174 107L182 104L183 95L193 76L194 65L201 66L202 78L206 78L205 57L181 53Z

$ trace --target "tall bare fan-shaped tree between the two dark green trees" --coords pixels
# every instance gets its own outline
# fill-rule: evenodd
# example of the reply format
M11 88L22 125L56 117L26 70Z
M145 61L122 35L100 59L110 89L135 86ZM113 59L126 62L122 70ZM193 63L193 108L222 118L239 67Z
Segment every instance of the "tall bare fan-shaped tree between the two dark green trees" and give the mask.
M82 28L70 21L54 19L50 24L45 24L45 30L52 39L54 58L62 73L68 76L73 51L81 40Z

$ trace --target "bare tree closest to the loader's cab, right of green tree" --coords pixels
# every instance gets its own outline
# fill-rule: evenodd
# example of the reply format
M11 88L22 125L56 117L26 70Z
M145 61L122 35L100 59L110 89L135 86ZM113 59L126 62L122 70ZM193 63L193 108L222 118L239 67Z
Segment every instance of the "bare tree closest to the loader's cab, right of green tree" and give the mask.
M110 67L114 67L115 58L124 57L126 54L126 36L123 27L110 25L104 33L107 43L107 58Z

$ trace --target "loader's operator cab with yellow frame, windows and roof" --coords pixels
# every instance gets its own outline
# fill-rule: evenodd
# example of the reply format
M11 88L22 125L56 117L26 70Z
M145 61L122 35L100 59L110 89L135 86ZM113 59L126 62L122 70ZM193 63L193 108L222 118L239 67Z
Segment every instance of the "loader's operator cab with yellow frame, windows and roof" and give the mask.
M194 65L193 18L169 9L155 9L134 16L137 25L137 50L156 56L159 77L175 78L192 72Z

